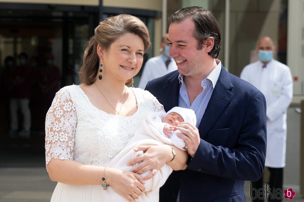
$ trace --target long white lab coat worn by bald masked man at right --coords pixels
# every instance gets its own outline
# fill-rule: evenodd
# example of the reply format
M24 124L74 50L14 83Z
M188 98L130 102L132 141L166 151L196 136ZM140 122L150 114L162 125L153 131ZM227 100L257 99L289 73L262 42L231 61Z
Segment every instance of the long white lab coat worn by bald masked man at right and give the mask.
M265 166L285 167L287 109L293 97L293 78L289 67L272 59L262 68L257 61L244 67L241 79L259 89L266 98L267 151Z

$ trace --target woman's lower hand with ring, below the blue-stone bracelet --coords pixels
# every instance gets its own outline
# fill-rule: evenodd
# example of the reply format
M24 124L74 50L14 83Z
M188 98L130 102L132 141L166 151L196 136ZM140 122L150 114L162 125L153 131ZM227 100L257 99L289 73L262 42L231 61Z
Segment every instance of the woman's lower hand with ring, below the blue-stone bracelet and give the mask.
M107 181L109 179L110 186L128 201L135 202L145 191L145 182L139 174L111 168L107 168L107 173L109 177L106 178Z

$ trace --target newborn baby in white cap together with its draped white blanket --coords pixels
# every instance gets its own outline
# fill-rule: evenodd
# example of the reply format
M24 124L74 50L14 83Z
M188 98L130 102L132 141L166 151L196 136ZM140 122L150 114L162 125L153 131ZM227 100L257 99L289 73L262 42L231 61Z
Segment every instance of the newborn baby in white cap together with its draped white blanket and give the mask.
M181 131L176 130L175 128L183 121L188 121L195 126L196 116L194 111L181 107L173 107L168 113L164 111L147 113L141 122L141 126L135 131L132 139L126 144L123 150L111 160L107 167L131 171L135 166L138 166L141 163L139 162L136 163L136 165L127 166L129 161L144 153L141 150L134 151L134 148L140 145L168 144L186 151L187 149L184 140L177 137L176 134L181 133ZM151 170L148 170L141 174L141 176L145 178L150 175L151 172ZM165 164L157 171L153 178L145 180L145 192L142 193L140 200L138 201L159 201L158 198L153 198L155 195L151 193L158 193L159 188L163 186L171 173L172 168L168 164ZM111 186L107 189L107 193L109 197L115 198L115 200L111 201L126 201L123 196L120 196L112 190Z

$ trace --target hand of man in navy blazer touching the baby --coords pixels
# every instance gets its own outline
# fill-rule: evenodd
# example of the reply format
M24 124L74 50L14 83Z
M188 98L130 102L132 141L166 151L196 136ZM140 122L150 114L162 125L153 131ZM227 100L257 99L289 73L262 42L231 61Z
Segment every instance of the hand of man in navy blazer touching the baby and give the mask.
M194 157L200 143L199 129L190 122L181 122L177 125L176 130L185 134L178 133L177 136L185 141L188 153Z

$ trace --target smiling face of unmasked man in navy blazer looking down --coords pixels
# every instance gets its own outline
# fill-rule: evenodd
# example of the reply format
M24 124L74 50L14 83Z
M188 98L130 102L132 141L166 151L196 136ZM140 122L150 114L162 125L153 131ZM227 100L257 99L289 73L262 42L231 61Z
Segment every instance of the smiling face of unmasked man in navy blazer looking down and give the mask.
M185 19L180 23L171 23L168 41L170 56L176 62L178 72L186 76L195 76L203 71L203 64L208 53L205 46L197 49L198 41L193 37L194 22Z

